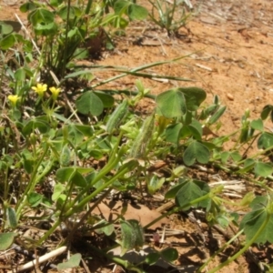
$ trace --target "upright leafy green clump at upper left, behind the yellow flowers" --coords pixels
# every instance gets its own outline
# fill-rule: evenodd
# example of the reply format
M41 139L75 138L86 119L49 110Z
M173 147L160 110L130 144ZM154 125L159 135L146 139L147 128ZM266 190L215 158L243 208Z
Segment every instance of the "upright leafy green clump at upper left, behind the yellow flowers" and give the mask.
M53 73L65 80L67 71L75 68L75 61L99 55L102 47L113 49L111 32L126 29L129 21L143 20L147 9L129 0L78 1L53 0L48 3L29 1L21 5L41 48L41 73Z

